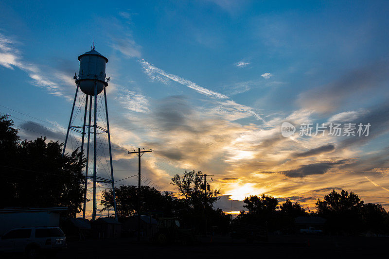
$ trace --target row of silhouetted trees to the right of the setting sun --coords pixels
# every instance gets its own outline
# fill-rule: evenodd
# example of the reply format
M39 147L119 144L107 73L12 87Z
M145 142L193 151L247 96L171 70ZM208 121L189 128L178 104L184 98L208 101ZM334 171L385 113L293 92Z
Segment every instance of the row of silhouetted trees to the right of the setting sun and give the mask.
M278 200L266 194L246 197L244 202L247 210L241 210L234 221L265 225L269 231L293 233L298 230L296 217L319 216L326 220L323 225L325 234L389 233L389 212L381 204L365 203L353 191L332 190L323 200L316 201L317 210L310 214L299 203L289 199L278 207Z

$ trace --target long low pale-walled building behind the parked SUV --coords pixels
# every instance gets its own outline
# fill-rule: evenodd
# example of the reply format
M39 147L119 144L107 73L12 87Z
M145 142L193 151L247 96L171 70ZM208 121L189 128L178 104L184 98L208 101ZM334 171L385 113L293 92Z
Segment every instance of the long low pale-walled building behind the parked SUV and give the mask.
M23 226L59 226L59 213L68 207L0 209L0 235Z

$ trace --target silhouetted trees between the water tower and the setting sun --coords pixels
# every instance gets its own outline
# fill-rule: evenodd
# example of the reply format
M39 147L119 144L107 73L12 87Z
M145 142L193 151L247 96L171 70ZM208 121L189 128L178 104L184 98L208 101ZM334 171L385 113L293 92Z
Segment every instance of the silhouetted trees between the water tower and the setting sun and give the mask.
M189 171L182 175L176 174L171 184L177 189L177 193L164 191L163 193L154 187L141 186L139 197L138 187L122 185L115 188L116 208L120 221L137 214L138 199L141 200L141 213L150 213L154 217L177 217L182 227L191 228L196 233L207 229L214 229L218 233L228 233L230 216L220 208L215 209L213 204L218 199L220 190L207 191L205 195L202 185L203 174ZM113 207L112 190L103 190L103 206L101 211Z

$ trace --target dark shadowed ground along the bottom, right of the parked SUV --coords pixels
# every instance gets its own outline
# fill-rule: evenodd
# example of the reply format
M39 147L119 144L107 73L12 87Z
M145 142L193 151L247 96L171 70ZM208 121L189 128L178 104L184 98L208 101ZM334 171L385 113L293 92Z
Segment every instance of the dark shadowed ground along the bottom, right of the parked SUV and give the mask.
M274 258L346 258L387 256L389 238L329 237L329 236L270 236L269 242L248 244L234 241L229 236L203 237L201 243L157 245L137 243L131 239L87 240L69 242L69 247L57 258L242 258L271 256Z

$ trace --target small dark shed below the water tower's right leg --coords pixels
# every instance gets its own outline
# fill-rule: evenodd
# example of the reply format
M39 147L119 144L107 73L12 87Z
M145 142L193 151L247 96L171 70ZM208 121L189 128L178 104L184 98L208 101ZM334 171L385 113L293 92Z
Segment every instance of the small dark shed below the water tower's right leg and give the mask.
M98 218L91 222L93 238L120 238L122 224L114 218Z

